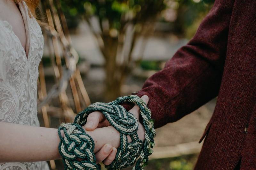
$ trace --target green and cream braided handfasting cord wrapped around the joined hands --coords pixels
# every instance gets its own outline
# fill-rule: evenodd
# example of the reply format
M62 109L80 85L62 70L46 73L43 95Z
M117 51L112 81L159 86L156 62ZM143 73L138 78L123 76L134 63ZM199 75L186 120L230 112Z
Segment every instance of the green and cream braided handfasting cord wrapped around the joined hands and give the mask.
M124 103L124 102L132 102L134 104L137 104L140 107L140 115L143 118L143 126L145 129L145 141L144 143L139 139L138 134L137 134L137 130L138 130L138 120L136 119L136 117L130 113L127 112L123 106L121 106L120 104ZM148 109L147 105L145 104L145 102L140 99L140 97L136 96L136 95L131 95L131 96L124 96L124 97L119 97L116 100L110 102L110 103L94 103L91 104L90 106L88 106L86 109L84 109L82 112L78 113L76 115L74 124L76 128L77 127L81 127L83 126L86 121L87 121L87 117L89 114L91 114L94 111L100 111L103 113L103 115L106 117L106 119L110 122L110 124L117 130L120 132L120 147L117 150L116 153L116 159L109 165L106 166L107 169L122 169L128 166L133 165L136 160L136 165L133 167L134 170L142 170L144 169L144 166L147 165L148 162L148 156L151 155L153 153L152 148L154 147L154 137L156 135L156 131L153 127L153 121L151 120L151 112ZM60 127L61 128L61 127ZM59 128L59 136L61 138L60 135L60 128ZM82 128L82 127L81 127ZM83 129L83 128L82 128ZM81 130L82 131L82 130ZM68 134L68 133L67 133ZM69 138L70 140L73 139L72 136L73 133L71 132L69 134ZM131 143L128 143L128 139L127 139L127 135L129 135L132 139ZM65 134L66 136L66 134ZM89 137L85 131L83 131L82 134L82 138L84 139L84 137ZM65 138L65 137L64 137ZM75 149L73 148L79 148L79 152L83 155L86 155L86 166L85 163L81 163L79 164L79 166L83 165L83 169L90 169L90 166L92 165L96 165L96 160L91 158L91 153L93 154L93 148L94 148L94 142L91 139L90 141L90 145L93 145L93 148L90 147L90 154L87 153L87 150L84 150L84 152L82 152L82 150L84 149L83 144L77 142L74 142L74 144L70 144L70 140L67 137L67 140L61 140L61 142L63 143L63 151L66 153L67 150L69 151L69 155L80 155L77 154L75 152ZM76 146L74 146L76 145ZM61 146L61 144L60 144ZM72 149L70 149L72 148ZM87 147L88 148L88 147ZM60 152L63 152L61 150L62 148L59 147ZM74 152L74 153L73 153ZM76 158L67 158L67 156L65 154L61 154L61 156L63 157L63 162L65 164L65 167L68 167L67 169L76 169L78 168L78 162L76 162ZM80 157L79 157L80 158ZM84 157L85 158L85 157ZM94 156L95 158L95 156ZM90 162L92 161L92 162ZM75 162L75 164L74 164ZM96 165L97 166L97 165ZM96 167L95 166L95 167ZM99 167L100 168L100 167ZM78 168L80 169L80 168ZM93 168L91 168L93 169Z

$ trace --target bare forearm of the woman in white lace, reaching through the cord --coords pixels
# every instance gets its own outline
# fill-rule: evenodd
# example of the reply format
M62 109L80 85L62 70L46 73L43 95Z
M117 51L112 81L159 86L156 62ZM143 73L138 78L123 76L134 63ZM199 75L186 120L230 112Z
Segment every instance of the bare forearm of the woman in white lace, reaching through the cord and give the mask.
M86 133L94 140L97 162L105 159L103 163L110 164L116 155L112 145L120 144L119 132L111 126ZM59 143L58 129L0 122L0 162L60 159Z

